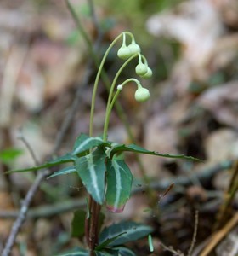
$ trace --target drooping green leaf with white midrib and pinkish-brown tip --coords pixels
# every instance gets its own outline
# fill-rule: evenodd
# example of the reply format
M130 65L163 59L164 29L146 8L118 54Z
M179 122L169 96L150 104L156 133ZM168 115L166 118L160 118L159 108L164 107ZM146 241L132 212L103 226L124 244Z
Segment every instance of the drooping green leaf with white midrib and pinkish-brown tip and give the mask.
M122 212L131 195L133 175L123 160L107 160L106 206L111 212Z

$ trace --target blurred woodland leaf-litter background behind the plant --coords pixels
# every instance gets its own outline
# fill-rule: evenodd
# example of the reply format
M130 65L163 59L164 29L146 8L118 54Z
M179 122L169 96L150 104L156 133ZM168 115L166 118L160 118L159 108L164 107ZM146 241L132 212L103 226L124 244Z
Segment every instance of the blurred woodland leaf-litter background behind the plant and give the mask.
M155 253L150 253L144 240L129 245L138 251L137 255L172 255L160 242L187 252L195 209L201 212L195 244L198 246L212 234L214 214L223 204L230 177L234 177L231 166L238 156L238 2L70 3L92 45L99 45L99 59L120 32L130 31L153 70L151 79L142 80L150 90L149 102L141 104L134 100L133 85L123 89L119 99L122 113L112 114L109 139L203 160L191 163L139 156L138 161L128 154L133 189L137 192L122 214L104 211L106 224L132 219L154 227ZM97 70L90 66L93 58L89 44L63 0L2 0L0 34L1 251L13 223L6 211L17 213L35 178L35 173L7 176L4 172L35 165L24 141L31 145L39 163L52 157L57 134L76 98L77 111L54 154L71 151L76 137L81 132L88 133ZM110 80L122 66L116 56L120 46L121 43L116 44L105 63ZM122 73L121 81L136 76L134 65ZM103 130L106 100L107 90L102 81L96 102L95 134ZM128 134L127 125L133 137ZM212 172L214 168L216 172ZM179 177L184 178L184 183L179 182ZM162 186L162 182L167 185ZM173 189L161 199L173 182ZM147 193L148 188L152 195ZM77 245L77 239L71 238L72 210L77 208L73 207L75 202L83 198L85 191L74 176L43 182L31 203L31 218L17 238L13 255L53 255ZM72 210L60 212L59 203L68 202ZM58 213L50 212L54 205L55 209L59 207ZM237 196L229 204L224 223L235 210ZM236 235L232 236L237 238L237 233L236 227ZM219 246L210 255L237 255L226 254L226 244Z

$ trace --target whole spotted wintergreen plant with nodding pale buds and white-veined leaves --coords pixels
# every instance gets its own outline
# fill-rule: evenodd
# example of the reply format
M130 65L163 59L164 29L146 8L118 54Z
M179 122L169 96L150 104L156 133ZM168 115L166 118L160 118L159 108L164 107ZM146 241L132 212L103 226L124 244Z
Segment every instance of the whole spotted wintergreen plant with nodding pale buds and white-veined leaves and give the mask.
M105 109L103 135L101 137L94 137L94 108L100 74L107 55L112 47L121 40L121 38L122 46L118 49L117 56L124 60L124 63L117 71L115 78L111 83L107 106ZM131 40L131 43L128 45L127 38L130 38ZM95 79L90 114L89 136L81 134L77 137L74 147L70 153L60 156L55 160L50 160L42 166L13 171L34 171L69 162L71 163L71 166L67 166L58 172L54 172L50 177L76 172L78 177L82 180L89 196L88 211L82 217L85 218L84 235L87 241L87 248L77 248L74 250L73 254L71 252L64 255L135 255L127 247L124 247L123 244L127 241L134 241L143 236L147 236L152 231L150 227L143 224L122 222L119 224L113 224L100 232L99 213L101 206L105 204L107 209L111 212L122 212L131 194L133 175L126 162L117 157L118 154L121 154L124 151L131 151L140 154L153 154L163 157L194 160L192 157L187 157L181 154L159 154L157 152L141 148L135 144L124 145L108 141L107 133L111 111L117 97L123 90L123 87L129 82L134 82L137 86L137 90L135 90L134 95L135 100L138 102L145 102L150 98L149 90L144 88L138 79L126 79L121 84L118 84L117 82L122 70L135 58L138 58L135 73L143 79L150 79L152 71L148 66L146 58L140 52L141 49L139 44L135 42L131 32L122 32L117 36L106 50ZM73 229L77 228L79 227L73 226Z

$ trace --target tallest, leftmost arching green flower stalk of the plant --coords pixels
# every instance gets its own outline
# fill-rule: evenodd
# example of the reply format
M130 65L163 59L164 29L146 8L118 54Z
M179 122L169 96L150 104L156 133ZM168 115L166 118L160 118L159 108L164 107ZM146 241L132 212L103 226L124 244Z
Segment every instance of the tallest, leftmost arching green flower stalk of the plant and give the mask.
M107 57L107 55L109 54L110 50L112 49L112 47L116 44L116 42L122 37L123 34L127 34L129 35L131 38L133 38L133 34L131 32L122 32L119 36L117 36L112 43L110 44L110 46L108 47L108 49L105 52L105 55L100 63L99 66L99 70L94 82L94 91L93 91L93 96L92 96L92 102L91 102L91 113L90 113L90 127L89 127L89 136L93 136L94 133L94 109L95 109L95 101L96 101L96 93L98 90L98 85L99 85L99 78L100 78L100 74L102 73L103 70L103 66L105 64L105 59Z

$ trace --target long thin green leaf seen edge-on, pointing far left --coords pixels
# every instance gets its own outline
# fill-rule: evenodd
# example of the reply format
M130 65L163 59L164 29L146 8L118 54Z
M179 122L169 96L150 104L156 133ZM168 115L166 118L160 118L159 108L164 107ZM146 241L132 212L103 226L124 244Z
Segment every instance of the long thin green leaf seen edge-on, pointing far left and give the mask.
M63 164L63 163L72 162L75 159L76 159L76 156L71 155L71 154L65 154L65 155L59 156L55 160L49 160L48 162L46 162L45 164L42 164L41 166L33 166L33 167L30 167L30 168L25 168L25 169L20 169L20 170L13 170L13 171L8 171L6 173L37 171L37 170L44 169L44 168L49 168L49 167L52 167L52 166L58 166L58 165Z

